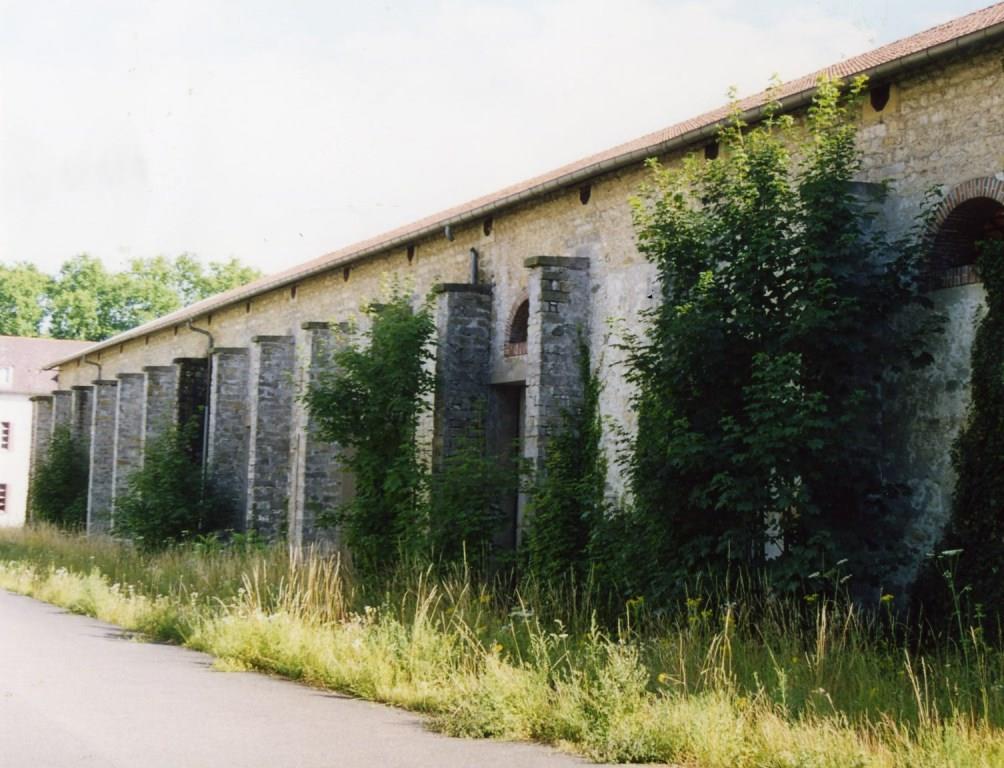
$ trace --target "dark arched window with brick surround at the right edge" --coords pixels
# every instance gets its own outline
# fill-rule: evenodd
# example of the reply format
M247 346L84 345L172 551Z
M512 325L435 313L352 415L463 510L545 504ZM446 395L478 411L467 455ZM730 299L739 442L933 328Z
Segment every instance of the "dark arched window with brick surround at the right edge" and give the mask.
M1004 239L1004 205L993 198L965 200L945 217L935 235L931 271L935 287L979 282L977 244Z

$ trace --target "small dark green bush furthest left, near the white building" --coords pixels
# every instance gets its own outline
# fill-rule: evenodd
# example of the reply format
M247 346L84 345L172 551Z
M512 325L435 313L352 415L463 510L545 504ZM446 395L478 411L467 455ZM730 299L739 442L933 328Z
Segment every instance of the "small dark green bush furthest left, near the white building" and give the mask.
M52 431L45 456L33 469L28 518L64 529L87 522L87 455L68 427Z

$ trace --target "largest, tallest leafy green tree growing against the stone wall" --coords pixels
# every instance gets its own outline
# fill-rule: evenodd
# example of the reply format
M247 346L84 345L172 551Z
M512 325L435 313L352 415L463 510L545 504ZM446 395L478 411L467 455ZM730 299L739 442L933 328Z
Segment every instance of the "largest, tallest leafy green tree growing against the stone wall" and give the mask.
M878 470L880 385L925 359L927 324L897 322L926 303L924 249L919 229L872 227L852 183L861 84L845 98L820 82L805 141L776 111L734 117L718 160L654 165L636 202L663 291L631 343L638 593L679 595L737 563L804 587L843 558L876 589L869 574L897 557L906 510Z

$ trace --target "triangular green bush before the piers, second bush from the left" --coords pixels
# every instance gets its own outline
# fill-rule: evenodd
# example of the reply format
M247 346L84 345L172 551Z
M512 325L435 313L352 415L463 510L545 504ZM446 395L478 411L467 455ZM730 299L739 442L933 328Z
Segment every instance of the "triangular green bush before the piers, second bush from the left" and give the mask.
M169 427L147 446L143 467L115 500L115 535L156 549L232 524L232 510L192 459L195 428Z

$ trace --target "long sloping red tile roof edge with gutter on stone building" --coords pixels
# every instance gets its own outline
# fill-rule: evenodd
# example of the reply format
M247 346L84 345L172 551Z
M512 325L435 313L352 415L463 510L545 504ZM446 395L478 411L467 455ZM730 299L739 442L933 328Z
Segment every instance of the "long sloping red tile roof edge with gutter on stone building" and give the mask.
M804 99L811 95L821 76L839 78L848 78L859 74L881 76L885 73L891 73L892 70L906 67L913 63L915 59L920 62L938 55L951 53L953 50L961 47L964 42L997 36L1004 36L1004 2L953 19L919 34L897 40L867 53L852 56L797 79L789 80L781 84L773 94L769 95L766 90L756 93L739 101L739 108L743 112L751 112L755 116L756 110L765 106L771 95L774 99L780 100L785 108L792 108L802 103ZM671 147L708 138L714 134L722 120L729 116L732 108L731 104L721 106L683 122L670 125L662 131L641 137L633 142L628 142L574 163L569 163L549 173L511 185L490 195L476 198L475 200L433 214L390 232L385 232L368 240L363 240L282 272L260 278L240 288L234 288L216 296L203 299L188 307L179 309L156 320L151 320L144 325L94 344L93 349L101 349L154 330L171 327L178 322L198 317L212 309L243 301L259 293L288 285L297 280L325 272L384 250L401 247L409 240L426 237L448 224L456 225L470 221L479 216L485 216L491 211L515 205L528 198L553 192L562 185L570 186L578 184L589 177L640 163L648 157L665 153ZM69 359L72 359L72 357ZM61 359L52 364L54 366L59 364L59 362L65 361L67 360Z

